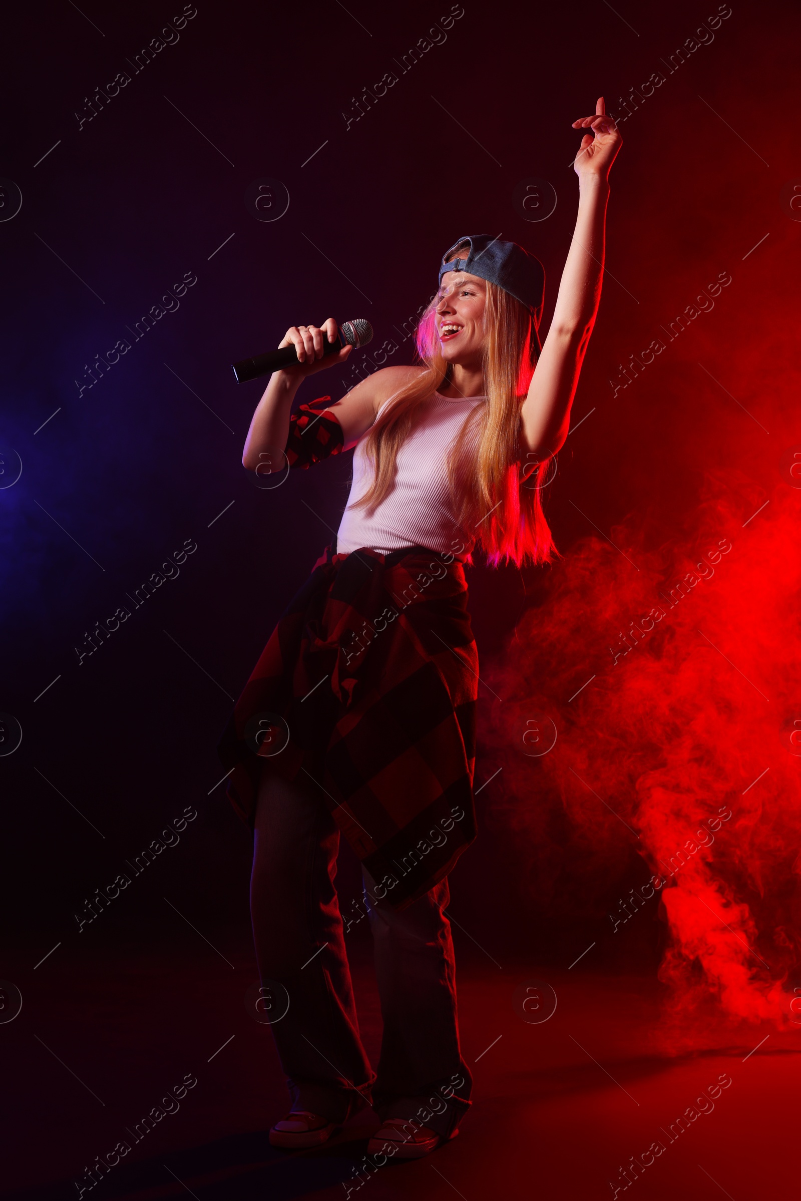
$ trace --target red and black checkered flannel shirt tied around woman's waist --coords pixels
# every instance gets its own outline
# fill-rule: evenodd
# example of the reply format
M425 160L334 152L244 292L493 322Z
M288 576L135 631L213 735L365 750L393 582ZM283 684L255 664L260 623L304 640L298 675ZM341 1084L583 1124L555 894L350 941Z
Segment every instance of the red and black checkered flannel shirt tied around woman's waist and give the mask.
M287 779L305 770L378 896L397 909L447 876L476 837L478 656L464 568L447 557L329 546L220 743L245 821L252 826L262 770ZM264 713L270 737L259 747L252 730Z

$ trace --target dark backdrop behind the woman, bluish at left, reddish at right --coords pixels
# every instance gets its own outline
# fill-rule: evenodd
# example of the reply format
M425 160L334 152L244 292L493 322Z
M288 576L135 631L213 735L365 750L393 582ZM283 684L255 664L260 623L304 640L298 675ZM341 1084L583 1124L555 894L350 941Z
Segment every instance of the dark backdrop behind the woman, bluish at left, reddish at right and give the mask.
M0 436L5 478L12 452L23 470L0 491L0 709L23 740L0 758L0 782L6 938L18 982L31 973L23 992L40 987L34 964L54 944L53 960L76 964L120 948L169 954L192 936L165 896L215 945L246 952L250 836L215 788L216 742L336 528L351 456L275 491L253 488L240 456L262 386L238 386L229 364L277 345L289 324L331 315L371 321L365 365L388 339L397 343L388 362L411 362L399 329L465 233L502 233L543 261L546 329L578 203L570 123L597 96L626 115L621 97L664 76L621 125L600 311L549 489L564 558L522 572L477 558L470 569L482 675L500 694L482 691L477 785L512 754L494 709L550 694L544 667L536 681L521 675L519 637L525 628L537 641L537 610L555 586L569 599L570 637L564 627L558 645L574 655L576 688L593 670L584 663L606 656L590 639L598 614L610 638L629 619L624 604L615 610L612 576L593 591L579 573L572 586L587 539L620 545L620 533L629 550L662 554L666 578L712 528L710 489L745 521L773 489L790 495L783 455L801 442L791 364L801 227L782 204L801 177L797 6L735 4L713 41L670 70L716 5L466 0L444 44L401 73L397 60L447 4L203 2L177 44L135 73L128 60L173 8L44 4L6 19L0 174L6 205L8 180L23 204L0 222ZM79 129L84 97L120 71L130 83ZM387 71L397 83L348 127L353 97ZM555 189L546 220L525 220L513 203L530 178ZM264 179L289 196L274 221L245 199ZM722 271L733 282L715 310L615 394L621 364ZM128 329L184 273L197 282L179 309L135 341ZM121 337L131 349L79 394L85 365ZM351 366L331 370L300 399L337 398L353 382ZM795 537L795 516L788 530ZM180 575L79 665L76 647L95 622L132 608L126 594L185 539L197 550ZM533 616L515 634L525 610ZM562 685L555 705L572 688ZM599 856L552 778L526 771L479 794L482 833L452 878L452 912L494 954L567 967L603 930L603 964L656 972L666 938L656 909L626 942L608 934L609 908L647 878L638 848L623 836ZM179 846L79 934L84 898L187 806L197 818ZM526 836L522 806L539 813ZM343 900L355 891L343 853Z

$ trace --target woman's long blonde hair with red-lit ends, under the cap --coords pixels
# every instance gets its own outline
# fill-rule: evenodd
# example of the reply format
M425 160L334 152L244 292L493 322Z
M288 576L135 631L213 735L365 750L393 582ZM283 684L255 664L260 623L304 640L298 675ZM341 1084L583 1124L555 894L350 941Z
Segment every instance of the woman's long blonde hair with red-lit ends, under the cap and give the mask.
M391 491L401 444L426 400L450 381L453 369L442 357L436 331L437 303L435 297L414 335L425 370L390 398L365 438L373 477L354 508L373 513ZM525 305L488 281L484 324L486 399L465 420L448 460L454 520L476 538L492 567L501 560L518 567L548 563L558 557L540 495L551 456L532 470L520 461L519 449L520 408L536 365L532 318Z

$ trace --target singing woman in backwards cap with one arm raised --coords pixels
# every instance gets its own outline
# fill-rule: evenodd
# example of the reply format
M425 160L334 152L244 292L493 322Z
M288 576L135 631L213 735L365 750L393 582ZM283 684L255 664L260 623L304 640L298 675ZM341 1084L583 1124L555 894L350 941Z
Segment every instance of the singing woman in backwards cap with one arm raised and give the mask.
M551 558L540 506L600 297L608 175L620 148L604 101L573 123L579 214L542 345L544 273L500 238L460 238L424 313L420 363L385 368L322 407L291 407L336 323L281 346L243 461L309 467L354 448L331 546L281 617L221 742L228 794L255 835L261 1006L287 1076L277 1147L311 1147L372 1104L369 1152L418 1158L452 1139L472 1078L459 1046L448 872L476 835L476 644L464 563ZM536 368L536 370L534 370ZM285 458L286 456L286 458ZM267 468L269 470L269 467ZM361 860L383 1041L361 1046L334 878L340 832ZM382 1159L385 1161L385 1159Z

